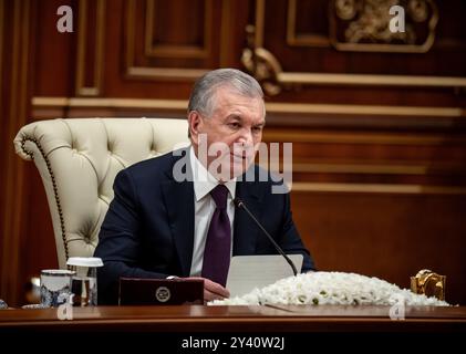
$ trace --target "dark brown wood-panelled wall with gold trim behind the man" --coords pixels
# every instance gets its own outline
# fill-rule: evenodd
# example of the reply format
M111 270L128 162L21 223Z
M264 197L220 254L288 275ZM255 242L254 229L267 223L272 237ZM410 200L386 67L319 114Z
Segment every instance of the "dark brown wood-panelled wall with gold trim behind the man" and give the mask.
M56 10L73 10L60 33ZM405 32L387 31L390 6ZM466 304L466 2L0 0L0 298L56 268L42 183L13 153L30 122L185 118L205 71L252 73L266 142L293 143L292 209L320 270L410 287L423 268Z

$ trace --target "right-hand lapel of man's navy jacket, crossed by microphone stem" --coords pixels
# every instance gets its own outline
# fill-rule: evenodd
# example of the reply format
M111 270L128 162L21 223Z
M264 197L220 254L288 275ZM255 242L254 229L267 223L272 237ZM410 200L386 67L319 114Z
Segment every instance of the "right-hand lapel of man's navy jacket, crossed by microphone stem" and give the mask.
M241 199L252 215L260 220L261 189L258 183L238 181L236 197ZM256 252L256 240L259 228L245 210L236 208L234 226L234 256L253 254Z

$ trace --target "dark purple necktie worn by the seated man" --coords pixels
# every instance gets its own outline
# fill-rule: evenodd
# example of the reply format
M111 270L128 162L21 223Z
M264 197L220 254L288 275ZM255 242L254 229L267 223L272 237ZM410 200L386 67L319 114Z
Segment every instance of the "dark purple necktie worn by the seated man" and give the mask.
M227 214L228 188L218 185L210 191L210 196L217 208L207 232L201 275L225 287L231 249L231 226Z

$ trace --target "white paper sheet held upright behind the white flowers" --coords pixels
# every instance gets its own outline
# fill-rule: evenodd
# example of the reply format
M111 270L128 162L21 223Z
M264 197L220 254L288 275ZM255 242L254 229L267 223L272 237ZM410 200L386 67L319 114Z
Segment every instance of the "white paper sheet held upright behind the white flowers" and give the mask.
M298 273L301 271L302 254L287 254ZM228 271L227 289L230 298L241 296L255 288L261 289L277 280L293 275L293 270L280 254L235 256Z

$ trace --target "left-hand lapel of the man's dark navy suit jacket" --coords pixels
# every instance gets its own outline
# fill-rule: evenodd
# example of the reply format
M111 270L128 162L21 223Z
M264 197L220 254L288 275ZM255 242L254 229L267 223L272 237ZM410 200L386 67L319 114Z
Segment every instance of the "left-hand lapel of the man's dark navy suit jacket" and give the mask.
M187 149L186 154L188 152ZM179 158L174 156L174 164ZM182 272L184 277L189 277L194 248L193 179L176 181L172 170L167 173L169 179L163 184L163 195ZM190 175L189 163L186 165L186 173Z

